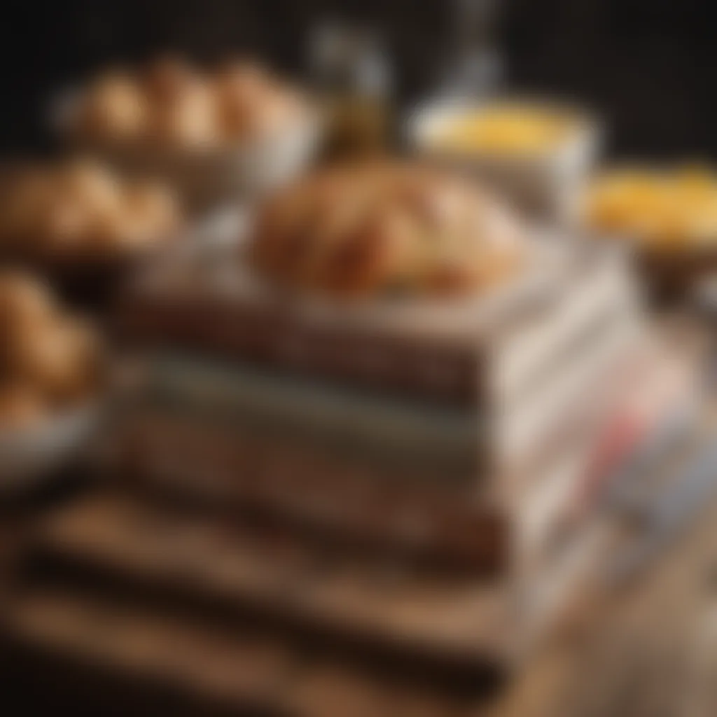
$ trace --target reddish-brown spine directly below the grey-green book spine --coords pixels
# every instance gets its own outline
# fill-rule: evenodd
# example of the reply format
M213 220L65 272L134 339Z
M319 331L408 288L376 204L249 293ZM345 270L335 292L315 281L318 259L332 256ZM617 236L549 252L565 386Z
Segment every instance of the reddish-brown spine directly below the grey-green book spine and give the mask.
M302 445L154 414L134 416L118 432L105 464L158 495L248 510L338 543L445 569L496 574L505 566L506 526L493 506L455 485L366 472Z

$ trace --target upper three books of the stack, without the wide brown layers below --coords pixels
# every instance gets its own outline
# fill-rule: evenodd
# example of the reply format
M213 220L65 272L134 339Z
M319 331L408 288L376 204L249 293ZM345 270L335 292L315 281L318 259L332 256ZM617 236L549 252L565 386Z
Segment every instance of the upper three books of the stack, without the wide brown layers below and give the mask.
M543 622L536 576L589 564L555 544L582 541L564 516L651 351L621 252L546 244L502 292L328 306L268 294L234 247L175 257L120 308L153 349L123 471L488 576Z

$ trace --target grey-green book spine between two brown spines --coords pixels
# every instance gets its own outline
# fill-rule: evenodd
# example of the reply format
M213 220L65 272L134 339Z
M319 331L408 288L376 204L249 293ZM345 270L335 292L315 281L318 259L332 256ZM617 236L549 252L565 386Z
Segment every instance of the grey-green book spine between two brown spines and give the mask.
M434 480L475 479L487 450L475 409L387 398L246 364L157 356L145 401L196 420L300 440L347 460L404 467Z

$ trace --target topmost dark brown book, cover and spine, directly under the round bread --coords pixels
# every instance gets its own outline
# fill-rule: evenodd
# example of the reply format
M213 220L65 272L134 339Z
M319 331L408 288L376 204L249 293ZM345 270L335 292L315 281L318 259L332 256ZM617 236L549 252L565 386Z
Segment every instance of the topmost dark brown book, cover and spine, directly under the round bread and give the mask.
M584 272L621 271L611 252L597 262L594 252L536 242L530 267L491 295L351 305L277 295L247 274L237 252L209 267L175 258L128 289L118 327L144 344L476 404L487 390L483 364L495 336L549 315L566 286L586 286Z

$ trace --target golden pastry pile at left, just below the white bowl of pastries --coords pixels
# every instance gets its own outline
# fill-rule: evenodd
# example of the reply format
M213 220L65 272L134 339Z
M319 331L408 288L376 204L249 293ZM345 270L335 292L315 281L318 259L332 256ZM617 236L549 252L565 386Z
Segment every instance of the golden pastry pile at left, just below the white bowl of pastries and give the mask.
M163 185L120 179L93 161L22 166L0 184L0 254L60 261L134 256L171 237L180 214Z

